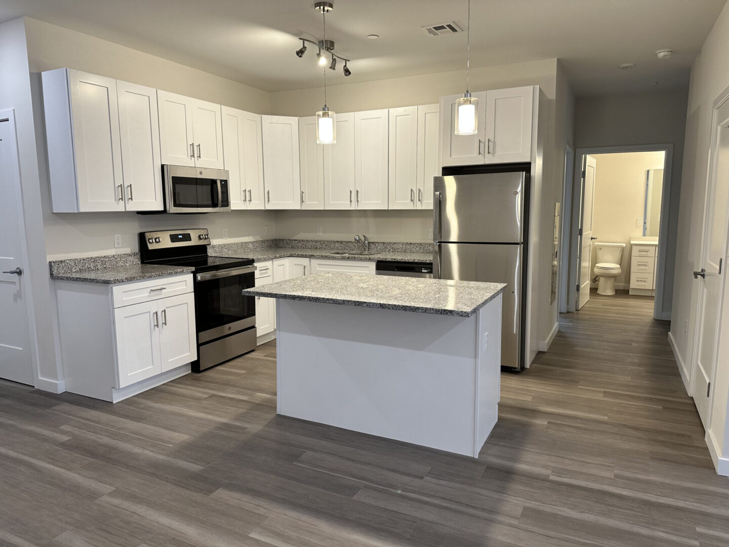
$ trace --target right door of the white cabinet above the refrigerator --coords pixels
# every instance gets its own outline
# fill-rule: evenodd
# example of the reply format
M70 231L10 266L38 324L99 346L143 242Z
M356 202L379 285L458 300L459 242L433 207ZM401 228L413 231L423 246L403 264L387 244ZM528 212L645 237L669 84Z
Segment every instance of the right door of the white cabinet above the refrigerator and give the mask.
M534 88L486 92L485 163L531 161L531 112Z

